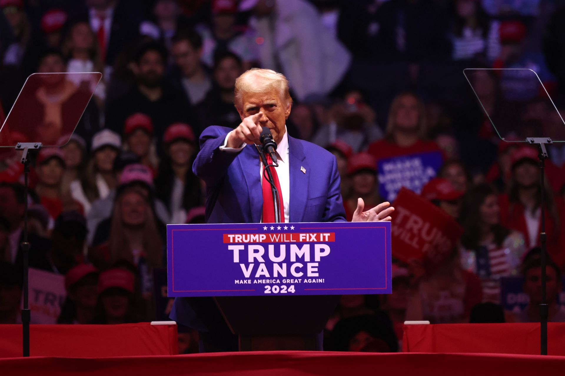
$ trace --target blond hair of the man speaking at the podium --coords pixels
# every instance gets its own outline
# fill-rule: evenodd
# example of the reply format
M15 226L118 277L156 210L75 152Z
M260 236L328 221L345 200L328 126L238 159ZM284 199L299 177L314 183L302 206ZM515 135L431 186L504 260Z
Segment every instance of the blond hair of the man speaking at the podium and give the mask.
M237 77L234 104L238 111L242 111L244 93L263 93L273 89L279 91L280 97L286 101L286 104L292 103L288 80L282 73L271 69L251 68Z

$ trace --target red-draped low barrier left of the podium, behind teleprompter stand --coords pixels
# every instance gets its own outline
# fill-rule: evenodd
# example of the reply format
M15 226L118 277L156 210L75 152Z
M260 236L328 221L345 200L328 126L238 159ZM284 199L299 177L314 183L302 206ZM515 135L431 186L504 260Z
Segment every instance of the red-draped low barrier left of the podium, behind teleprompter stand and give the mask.
M31 356L105 358L179 353L176 325L30 325L29 331ZM21 356L21 338L21 325L0 325L0 358Z

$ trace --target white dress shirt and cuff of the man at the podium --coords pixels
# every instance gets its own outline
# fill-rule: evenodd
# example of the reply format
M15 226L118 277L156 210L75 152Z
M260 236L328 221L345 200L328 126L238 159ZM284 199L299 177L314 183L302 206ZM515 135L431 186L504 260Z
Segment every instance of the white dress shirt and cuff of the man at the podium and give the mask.
M233 130L232 130L233 132ZM241 151L247 144L243 144L241 147L226 147L228 143L229 132L225 136L224 145L220 146L220 150L227 152L238 152ZM288 132L285 132L282 136L281 142L277 144L277 161L279 162L279 167L275 167L277 171L277 176L279 177L279 184L281 187L282 194L282 207L284 208L284 221L288 223L290 221L290 174L289 174L289 154L288 154ZM259 158L259 154L257 154ZM263 162L259 162L259 176L261 185L263 185ZM261 216L261 221L263 222L263 216Z

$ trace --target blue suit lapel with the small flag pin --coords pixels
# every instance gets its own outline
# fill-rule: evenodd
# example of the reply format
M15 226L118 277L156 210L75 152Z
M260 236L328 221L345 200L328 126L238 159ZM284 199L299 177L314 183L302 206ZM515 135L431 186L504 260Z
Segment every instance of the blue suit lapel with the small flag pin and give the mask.
M310 168L302 144L288 137L289 178L290 178L290 222L302 222L308 199L308 179ZM306 173L302 172L302 168Z

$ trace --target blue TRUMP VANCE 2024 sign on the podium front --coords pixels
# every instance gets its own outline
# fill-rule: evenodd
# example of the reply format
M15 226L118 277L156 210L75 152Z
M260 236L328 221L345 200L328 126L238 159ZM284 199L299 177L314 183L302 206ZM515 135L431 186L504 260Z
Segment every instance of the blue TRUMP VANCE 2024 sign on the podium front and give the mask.
M390 294L390 222L167 225L168 296Z

